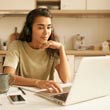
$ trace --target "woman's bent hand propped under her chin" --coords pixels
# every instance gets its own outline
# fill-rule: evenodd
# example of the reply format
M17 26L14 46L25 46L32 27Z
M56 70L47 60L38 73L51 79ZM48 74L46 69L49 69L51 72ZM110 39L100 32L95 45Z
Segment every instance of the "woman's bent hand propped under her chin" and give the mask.
M49 40L46 43L42 44L41 49L52 48L52 49L60 49L63 45L59 42Z

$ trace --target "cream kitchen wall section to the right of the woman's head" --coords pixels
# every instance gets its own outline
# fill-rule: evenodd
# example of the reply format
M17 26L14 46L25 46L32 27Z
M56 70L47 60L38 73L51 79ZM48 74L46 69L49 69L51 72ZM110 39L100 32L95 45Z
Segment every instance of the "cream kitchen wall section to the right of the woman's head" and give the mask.
M85 45L101 43L110 39L110 18L56 18L56 32L65 36L66 48L72 47L76 34L85 36Z

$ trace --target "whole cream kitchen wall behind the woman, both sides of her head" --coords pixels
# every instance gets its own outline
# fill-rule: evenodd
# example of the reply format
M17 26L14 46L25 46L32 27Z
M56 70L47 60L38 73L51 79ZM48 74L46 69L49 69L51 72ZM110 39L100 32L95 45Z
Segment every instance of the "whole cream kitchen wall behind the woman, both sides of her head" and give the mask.
M14 32L15 26L18 27L18 32L20 32L24 20L25 16L0 17L0 38L2 41L8 39L10 34ZM55 31L60 36L60 39L63 40L63 37L65 37L66 49L72 48L72 37L78 33L85 36L86 45L97 44L110 39L110 18L58 17L53 19L53 23Z

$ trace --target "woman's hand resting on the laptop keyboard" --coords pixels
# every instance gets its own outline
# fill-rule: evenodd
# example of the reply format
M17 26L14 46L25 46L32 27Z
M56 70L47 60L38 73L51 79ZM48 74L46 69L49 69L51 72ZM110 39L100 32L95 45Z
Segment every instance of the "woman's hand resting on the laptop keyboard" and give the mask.
M39 80L36 82L36 85L41 89L47 89L50 93L59 93L63 91L63 89L52 80Z

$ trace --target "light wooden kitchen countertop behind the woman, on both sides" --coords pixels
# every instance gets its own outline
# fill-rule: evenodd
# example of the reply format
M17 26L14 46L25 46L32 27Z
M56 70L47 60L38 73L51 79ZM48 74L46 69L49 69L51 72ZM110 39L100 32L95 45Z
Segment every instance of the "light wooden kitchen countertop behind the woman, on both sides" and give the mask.
M0 55L6 55L6 52L0 50ZM110 55L110 52L103 52L101 50L66 50L66 54L75 56L104 56Z

